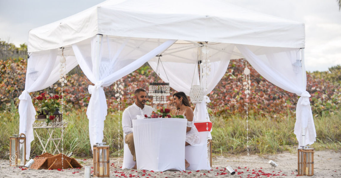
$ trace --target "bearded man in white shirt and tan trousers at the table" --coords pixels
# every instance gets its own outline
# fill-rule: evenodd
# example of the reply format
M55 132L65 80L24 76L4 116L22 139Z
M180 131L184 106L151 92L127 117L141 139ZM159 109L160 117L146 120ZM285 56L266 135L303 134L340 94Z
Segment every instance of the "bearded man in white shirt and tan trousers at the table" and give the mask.
M133 155L133 160L136 161L135 157L135 146L133 138L133 124L132 120L137 118L137 115L151 115L153 108L145 105L147 100L147 92L143 89L135 90L135 102L127 109L123 111L122 114L122 128L123 128L123 139L126 144L128 144L129 150ZM136 164L133 167L136 169Z

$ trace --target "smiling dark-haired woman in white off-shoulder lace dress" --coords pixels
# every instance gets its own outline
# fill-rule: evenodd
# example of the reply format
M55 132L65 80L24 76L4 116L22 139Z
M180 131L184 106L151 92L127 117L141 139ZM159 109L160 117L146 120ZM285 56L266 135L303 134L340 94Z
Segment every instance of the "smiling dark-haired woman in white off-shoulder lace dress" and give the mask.
M186 129L186 144L188 145L194 145L199 144L200 138L199 138L199 132L194 126L193 123L193 110L191 108L190 102L187 99L187 96L183 92L178 92L173 95L173 103L176 107L175 114L176 115L183 115L184 118L187 119L187 129ZM185 167L187 168L190 166L190 164L185 159Z

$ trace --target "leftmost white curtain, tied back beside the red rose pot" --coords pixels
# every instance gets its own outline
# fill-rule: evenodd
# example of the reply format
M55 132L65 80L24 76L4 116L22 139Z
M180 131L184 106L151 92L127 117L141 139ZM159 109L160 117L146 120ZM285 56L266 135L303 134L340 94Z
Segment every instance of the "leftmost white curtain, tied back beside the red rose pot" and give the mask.
M19 96L19 133L26 135L26 159L30 157L31 142L34 140L32 124L36 111L30 92L43 90L59 80L59 58L57 49L31 53L27 62L25 90ZM77 65L74 56L66 57L66 72Z

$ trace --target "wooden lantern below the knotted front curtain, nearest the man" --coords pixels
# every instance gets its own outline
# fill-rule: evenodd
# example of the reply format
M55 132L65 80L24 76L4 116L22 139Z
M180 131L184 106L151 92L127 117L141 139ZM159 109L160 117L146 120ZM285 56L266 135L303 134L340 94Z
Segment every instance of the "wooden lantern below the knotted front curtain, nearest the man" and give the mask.
M93 177L109 177L109 146L105 144L93 146Z

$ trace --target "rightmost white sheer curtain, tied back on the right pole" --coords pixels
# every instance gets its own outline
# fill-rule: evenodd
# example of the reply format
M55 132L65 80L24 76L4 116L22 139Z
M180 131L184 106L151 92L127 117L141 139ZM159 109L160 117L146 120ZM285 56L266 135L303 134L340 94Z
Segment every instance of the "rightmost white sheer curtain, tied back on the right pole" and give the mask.
M278 48L268 47L266 53L251 51L253 46L236 45L247 61L265 79L276 86L301 96L296 107L296 123L294 133L298 140L298 146L313 144L316 141L316 131L309 101L309 93L306 91L306 70L301 66L300 49L286 48L278 51ZM257 53L258 54L255 54ZM301 129L306 130L303 144Z

